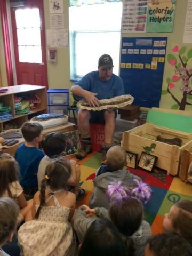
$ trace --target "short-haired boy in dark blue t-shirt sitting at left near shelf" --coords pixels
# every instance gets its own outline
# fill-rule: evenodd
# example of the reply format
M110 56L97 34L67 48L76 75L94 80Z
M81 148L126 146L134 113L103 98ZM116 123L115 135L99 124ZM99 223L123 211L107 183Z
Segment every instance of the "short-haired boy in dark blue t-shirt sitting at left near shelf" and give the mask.
M39 162L44 157L43 151L38 149L38 143L42 140L43 127L38 123L25 122L21 126L21 132L25 143L21 144L15 153L15 159L20 166L20 183L24 193L34 196L37 187L37 171Z

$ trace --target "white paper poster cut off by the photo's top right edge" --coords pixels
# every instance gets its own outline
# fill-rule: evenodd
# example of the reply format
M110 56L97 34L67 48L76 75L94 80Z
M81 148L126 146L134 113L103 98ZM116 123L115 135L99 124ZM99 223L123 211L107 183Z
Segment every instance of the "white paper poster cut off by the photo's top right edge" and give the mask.
M191 44L192 42L192 0L188 0L187 15L185 20L183 43Z

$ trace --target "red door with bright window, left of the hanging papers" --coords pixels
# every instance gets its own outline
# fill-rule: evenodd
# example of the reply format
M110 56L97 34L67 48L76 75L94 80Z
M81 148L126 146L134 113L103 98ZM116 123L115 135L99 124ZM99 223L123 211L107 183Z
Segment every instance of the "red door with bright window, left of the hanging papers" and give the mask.
M48 87L43 0L26 0L11 8L18 84Z

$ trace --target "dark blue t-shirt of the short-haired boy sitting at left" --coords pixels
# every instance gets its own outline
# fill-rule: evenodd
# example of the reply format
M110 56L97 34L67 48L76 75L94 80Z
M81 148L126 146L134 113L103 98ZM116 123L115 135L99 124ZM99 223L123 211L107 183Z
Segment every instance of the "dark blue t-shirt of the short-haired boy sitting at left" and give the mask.
M44 157L43 151L36 147L20 145L15 153L15 159L20 166L20 183L24 188L37 187L37 171L39 162Z

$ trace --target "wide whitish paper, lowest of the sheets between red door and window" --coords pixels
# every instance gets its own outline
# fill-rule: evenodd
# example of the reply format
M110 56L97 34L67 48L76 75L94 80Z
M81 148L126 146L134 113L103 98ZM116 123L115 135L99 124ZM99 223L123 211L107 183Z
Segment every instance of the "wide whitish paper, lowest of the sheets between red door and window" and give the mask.
M68 47L68 29L47 29L46 40L50 47Z

